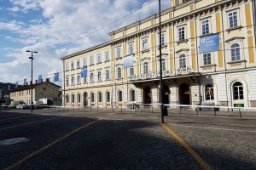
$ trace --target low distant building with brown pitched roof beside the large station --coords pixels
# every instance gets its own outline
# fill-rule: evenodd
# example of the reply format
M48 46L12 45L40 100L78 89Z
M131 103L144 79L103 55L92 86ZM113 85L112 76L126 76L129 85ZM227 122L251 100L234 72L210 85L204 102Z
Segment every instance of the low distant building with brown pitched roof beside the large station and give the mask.
M61 96L59 89L61 87L49 82L46 79L45 82L37 82L32 84L32 96L31 96L31 85L16 88L10 91L10 99L14 101L24 101L26 104L31 104L31 97L33 103L39 99L52 99L53 105L61 105Z

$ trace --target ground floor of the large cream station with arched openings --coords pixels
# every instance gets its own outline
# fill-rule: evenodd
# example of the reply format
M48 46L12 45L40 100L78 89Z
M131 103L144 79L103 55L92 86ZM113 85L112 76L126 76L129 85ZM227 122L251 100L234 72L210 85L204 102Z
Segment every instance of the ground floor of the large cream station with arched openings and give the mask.
M256 106L256 70L193 73L163 77L163 103L169 105ZM63 105L102 108L160 103L160 81L145 79L101 87L66 89Z

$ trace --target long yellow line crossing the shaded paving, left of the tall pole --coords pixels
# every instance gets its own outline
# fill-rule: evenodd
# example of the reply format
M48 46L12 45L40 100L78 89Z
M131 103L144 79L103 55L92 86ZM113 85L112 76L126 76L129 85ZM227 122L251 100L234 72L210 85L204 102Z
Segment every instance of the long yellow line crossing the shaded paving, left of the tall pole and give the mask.
M77 129L73 130L71 133L67 133L65 136L62 136L61 138L56 139L56 140L53 141L52 143L45 145L45 146L42 147L41 149L32 152L32 153L29 154L28 156L23 157L22 159L20 159L20 161L16 161L13 165L4 168L4 170L14 169L15 167L19 166L22 162L29 160L30 158L32 158L33 156L38 155L40 152L42 152L42 151L44 151L44 150L47 150L49 147L53 146L53 145L56 144L56 143L59 143L59 142L60 142L61 140L63 140L63 139L66 139L67 137L71 136L73 133L77 133L77 132L79 132L80 130L82 130L84 127L89 127L91 124L93 124L93 123L95 123L95 122L99 122L99 121L101 121L101 120L102 120L102 119L98 119L98 120L96 120L96 121L94 121L94 122L87 123L87 124L85 124L84 126L79 127L79 128L77 128Z

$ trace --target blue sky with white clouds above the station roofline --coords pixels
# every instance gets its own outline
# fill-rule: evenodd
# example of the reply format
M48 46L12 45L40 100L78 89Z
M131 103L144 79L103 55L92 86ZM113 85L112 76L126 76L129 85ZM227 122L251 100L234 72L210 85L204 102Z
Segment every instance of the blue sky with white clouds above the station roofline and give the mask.
M162 10L170 7L171 0L161 0ZM26 50L38 52L33 80L53 82L55 72L61 77L61 57L108 42L109 32L158 9L158 0L0 0L0 82L30 81Z

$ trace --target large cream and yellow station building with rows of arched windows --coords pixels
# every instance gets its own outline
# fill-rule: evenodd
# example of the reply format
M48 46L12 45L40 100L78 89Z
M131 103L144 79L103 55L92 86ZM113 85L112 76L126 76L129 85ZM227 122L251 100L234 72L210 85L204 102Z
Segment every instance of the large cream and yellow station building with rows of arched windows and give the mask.
M154 14L61 58L63 105L157 104L161 63L164 104L256 106L253 0L172 0L161 12L161 35L158 26ZM218 50L204 50L214 36ZM133 66L124 69L128 55ZM88 76L81 77L85 66Z

